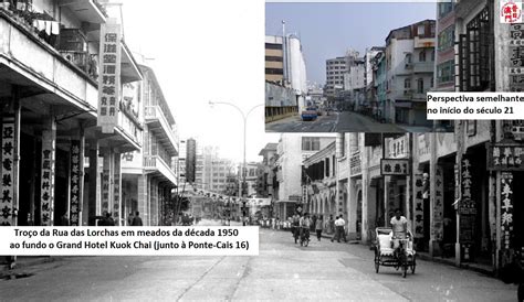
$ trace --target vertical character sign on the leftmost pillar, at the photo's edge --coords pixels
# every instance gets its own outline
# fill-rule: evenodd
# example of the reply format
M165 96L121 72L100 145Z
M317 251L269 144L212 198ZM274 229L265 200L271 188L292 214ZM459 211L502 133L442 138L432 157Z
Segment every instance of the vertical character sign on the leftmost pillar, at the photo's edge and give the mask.
M0 203L0 226L12 225L13 211L13 190L14 190L14 116L2 117L2 152L0 159L2 165L2 185L1 185L1 203Z

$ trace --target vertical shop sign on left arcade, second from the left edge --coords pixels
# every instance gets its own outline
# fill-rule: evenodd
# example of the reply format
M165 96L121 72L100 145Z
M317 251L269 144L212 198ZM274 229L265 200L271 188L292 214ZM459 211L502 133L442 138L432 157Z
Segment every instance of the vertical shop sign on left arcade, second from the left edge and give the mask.
M42 186L40 195L41 225L53 225L54 207L54 139L52 131L42 132Z

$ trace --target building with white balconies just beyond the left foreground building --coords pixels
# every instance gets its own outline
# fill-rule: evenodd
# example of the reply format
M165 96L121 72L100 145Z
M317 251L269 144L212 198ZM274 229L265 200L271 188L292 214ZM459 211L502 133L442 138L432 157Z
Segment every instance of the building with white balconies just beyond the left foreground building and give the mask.
M126 87L130 106L144 122L144 145L140 151L126 154L123 161L123 198L125 213L140 212L144 225L163 225L171 191L178 186L178 139L175 118L163 95L154 71L139 66L144 80Z

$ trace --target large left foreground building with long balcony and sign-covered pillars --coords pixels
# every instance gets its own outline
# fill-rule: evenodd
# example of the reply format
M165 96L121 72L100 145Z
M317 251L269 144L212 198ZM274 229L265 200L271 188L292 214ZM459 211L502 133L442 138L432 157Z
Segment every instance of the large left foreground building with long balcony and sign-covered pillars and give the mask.
M18 1L0 33L0 225L122 222L120 155L144 129L122 89L143 75L117 21L97 1Z

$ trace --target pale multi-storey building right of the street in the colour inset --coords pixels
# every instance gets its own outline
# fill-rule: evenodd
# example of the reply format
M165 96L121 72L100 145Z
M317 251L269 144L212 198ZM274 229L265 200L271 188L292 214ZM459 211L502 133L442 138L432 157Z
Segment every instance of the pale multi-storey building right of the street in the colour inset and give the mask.
M426 118L426 93L433 85L434 20L389 32L386 37L388 121L431 126Z

